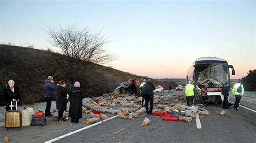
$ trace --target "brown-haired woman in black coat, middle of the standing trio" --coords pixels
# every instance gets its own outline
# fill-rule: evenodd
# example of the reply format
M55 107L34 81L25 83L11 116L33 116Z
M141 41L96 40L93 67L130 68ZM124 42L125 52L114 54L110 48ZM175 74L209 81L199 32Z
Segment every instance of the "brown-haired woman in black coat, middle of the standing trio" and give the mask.
M66 103L68 103L68 99L66 99L66 95L68 94L69 90L66 89L66 83L65 81L59 81L59 84L57 85L57 100L56 100L56 106L58 111L58 121L63 119L63 112L66 110Z

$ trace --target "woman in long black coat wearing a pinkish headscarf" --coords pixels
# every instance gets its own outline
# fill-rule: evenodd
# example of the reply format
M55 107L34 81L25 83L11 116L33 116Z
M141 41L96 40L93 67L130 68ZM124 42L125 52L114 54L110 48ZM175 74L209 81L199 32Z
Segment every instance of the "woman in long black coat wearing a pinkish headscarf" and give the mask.
M75 82L74 88L69 93L70 96L70 107L69 107L69 117L72 123L79 123L79 118L82 116L82 102L84 96L80 90L80 83Z

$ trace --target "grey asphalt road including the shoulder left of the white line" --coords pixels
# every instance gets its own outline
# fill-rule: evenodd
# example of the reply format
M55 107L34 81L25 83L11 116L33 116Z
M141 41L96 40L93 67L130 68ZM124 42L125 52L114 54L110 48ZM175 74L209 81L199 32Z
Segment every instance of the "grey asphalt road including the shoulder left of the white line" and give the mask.
M158 95L170 95L167 91ZM184 94L183 91L172 92L173 95ZM170 98L172 99L173 97ZM252 104L252 107L255 108L255 104ZM164 121L143 113L133 120L116 117L56 142L256 142L255 112L244 108L238 111L225 109L227 115L220 116L218 113L223 111L221 105L208 104L205 109L210 111L211 115L200 116L201 129L197 128L195 119L190 123ZM86 116L83 114L83 120ZM151 123L142 127L140 124L145 117L149 118ZM6 131L4 127L0 127L0 142L4 142L4 137L9 137L11 142L44 142L88 126L82 123L82 120L79 124L71 124L70 120L58 123L53 117L47 117L46 120L46 126L24 126L21 130L10 128ZM123 132L113 135L123 128Z

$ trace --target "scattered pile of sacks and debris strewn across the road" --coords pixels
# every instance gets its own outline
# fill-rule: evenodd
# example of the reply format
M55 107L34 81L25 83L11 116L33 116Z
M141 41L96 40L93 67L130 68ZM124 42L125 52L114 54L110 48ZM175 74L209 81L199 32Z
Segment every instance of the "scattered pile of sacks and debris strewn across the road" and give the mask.
M163 112L166 114L178 117L177 120L187 121L188 123L192 119L196 119L197 114L210 115L209 111L199 106L190 107L184 105L186 104L184 103L184 99L184 95L178 95L171 102L169 98L155 95L153 112L164 110ZM87 124L96 123L99 119L107 119L107 116L103 115L103 113L119 115L122 119L133 119L146 112L145 108L141 108L142 97L135 95L103 94L103 96L86 98L85 100L86 102L83 102L82 111L90 114L86 119ZM95 111L98 113L95 113ZM169 118L170 117L165 116L165 120ZM176 120L176 118L173 120Z

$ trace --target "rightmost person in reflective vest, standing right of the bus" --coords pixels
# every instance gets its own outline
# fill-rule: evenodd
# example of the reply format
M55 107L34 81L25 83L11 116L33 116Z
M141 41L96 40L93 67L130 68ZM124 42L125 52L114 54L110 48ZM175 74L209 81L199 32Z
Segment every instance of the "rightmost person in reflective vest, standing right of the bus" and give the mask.
M244 96L244 85L240 83L240 80L238 80L238 83L234 84L232 89L232 94L233 96L235 96L234 109L238 110L241 96Z

